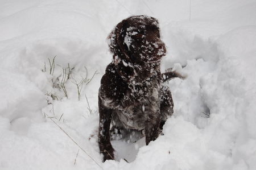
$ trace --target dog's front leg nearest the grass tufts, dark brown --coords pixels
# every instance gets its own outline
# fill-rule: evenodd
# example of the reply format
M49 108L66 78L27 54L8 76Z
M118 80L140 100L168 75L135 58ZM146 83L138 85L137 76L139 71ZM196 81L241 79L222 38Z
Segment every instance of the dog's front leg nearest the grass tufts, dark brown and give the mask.
M103 160L114 159L114 149L110 143L109 128L112 119L112 109L105 107L99 97L98 99L100 125L98 131L98 145L100 152L104 155Z

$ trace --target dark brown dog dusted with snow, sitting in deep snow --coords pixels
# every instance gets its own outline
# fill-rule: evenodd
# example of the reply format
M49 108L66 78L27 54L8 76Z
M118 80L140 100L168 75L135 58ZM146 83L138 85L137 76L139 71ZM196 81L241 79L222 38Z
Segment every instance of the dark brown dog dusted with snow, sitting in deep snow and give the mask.
M98 144L103 161L114 159L110 124L125 133L143 130L146 145L158 138L174 112L171 92L163 82L182 77L176 72L160 73L166 47L155 18L138 15L122 20L108 42L113 60L106 67L98 92Z

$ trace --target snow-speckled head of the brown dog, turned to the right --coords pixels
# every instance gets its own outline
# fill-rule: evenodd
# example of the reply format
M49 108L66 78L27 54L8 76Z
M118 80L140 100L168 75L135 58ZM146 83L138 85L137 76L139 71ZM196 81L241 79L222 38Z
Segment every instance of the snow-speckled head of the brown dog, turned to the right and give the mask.
M146 15L122 20L108 40L114 61L122 61L125 65L158 62L166 54L166 47L160 40L158 20Z

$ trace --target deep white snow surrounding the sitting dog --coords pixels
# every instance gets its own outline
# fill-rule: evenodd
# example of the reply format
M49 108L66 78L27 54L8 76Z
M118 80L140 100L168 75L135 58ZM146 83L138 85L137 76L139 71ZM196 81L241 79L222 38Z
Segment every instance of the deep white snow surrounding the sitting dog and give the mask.
M148 146L113 141L117 160L102 163L106 37L139 14L159 19L162 71L187 78L168 82L164 135ZM255 0L1 0L0 169L255 170L255 65Z

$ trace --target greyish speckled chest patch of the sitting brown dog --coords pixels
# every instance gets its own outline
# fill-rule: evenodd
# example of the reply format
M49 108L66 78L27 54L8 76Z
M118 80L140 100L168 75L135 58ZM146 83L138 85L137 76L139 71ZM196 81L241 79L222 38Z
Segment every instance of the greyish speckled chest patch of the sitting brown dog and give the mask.
M147 88L150 89L144 91L143 88L132 89L128 92L130 94L126 94L130 100L123 99L125 105L120 105L115 109L119 120L126 128L142 130L147 119L157 117L160 107L158 85Z

